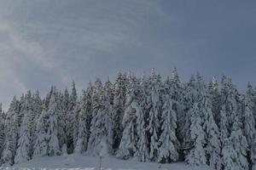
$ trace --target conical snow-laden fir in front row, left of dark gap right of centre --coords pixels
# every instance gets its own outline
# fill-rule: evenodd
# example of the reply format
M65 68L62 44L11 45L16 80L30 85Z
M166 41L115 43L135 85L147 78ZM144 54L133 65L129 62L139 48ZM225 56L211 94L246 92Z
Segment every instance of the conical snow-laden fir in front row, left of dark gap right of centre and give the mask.
M177 130L177 112L173 110L172 96L170 95L170 87L165 83L164 105L161 112L161 134L160 134L160 149L159 162L177 161L178 141L176 137Z

